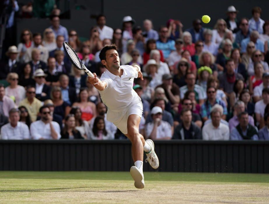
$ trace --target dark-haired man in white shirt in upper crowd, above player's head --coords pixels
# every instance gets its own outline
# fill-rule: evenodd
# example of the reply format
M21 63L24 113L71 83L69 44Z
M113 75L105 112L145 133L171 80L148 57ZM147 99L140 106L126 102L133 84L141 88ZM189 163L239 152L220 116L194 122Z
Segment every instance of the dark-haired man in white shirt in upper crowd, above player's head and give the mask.
M113 29L106 26L106 16L100 14L99 16L97 16L96 22L100 40L102 41L105 38L112 40Z

